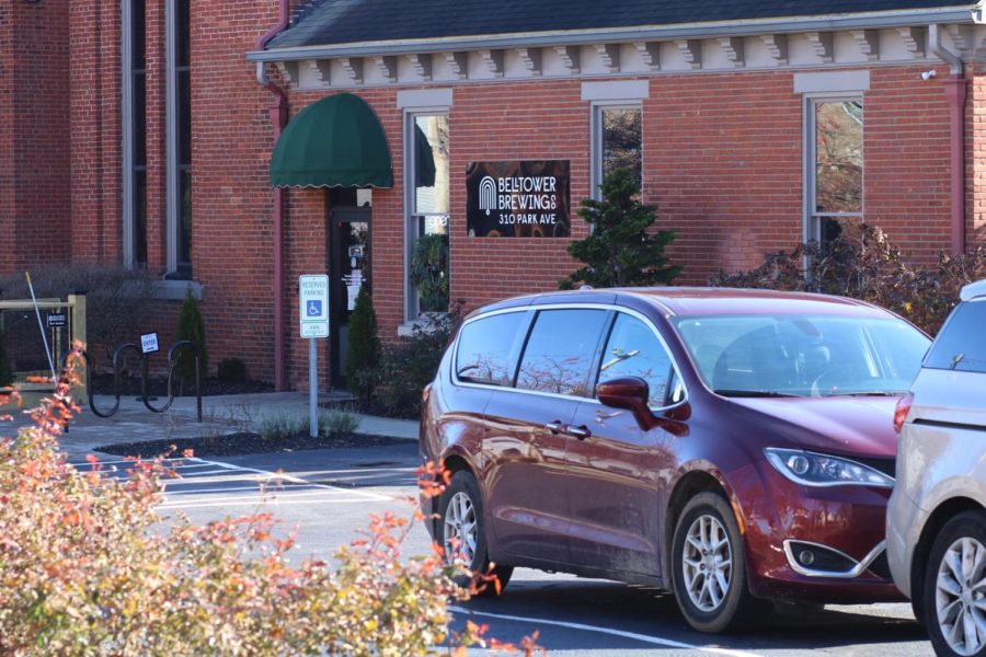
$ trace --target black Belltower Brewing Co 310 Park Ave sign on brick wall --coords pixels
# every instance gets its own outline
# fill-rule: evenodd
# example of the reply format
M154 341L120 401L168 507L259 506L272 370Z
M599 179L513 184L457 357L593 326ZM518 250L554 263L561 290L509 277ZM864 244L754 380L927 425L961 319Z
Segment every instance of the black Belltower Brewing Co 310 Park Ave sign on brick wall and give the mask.
M567 238L569 161L470 162L466 224L477 238Z

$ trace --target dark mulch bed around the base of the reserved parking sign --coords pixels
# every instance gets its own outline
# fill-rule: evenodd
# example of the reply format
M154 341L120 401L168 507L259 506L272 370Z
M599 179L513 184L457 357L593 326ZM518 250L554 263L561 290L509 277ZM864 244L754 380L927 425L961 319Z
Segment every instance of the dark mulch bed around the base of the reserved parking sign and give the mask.
M270 453L279 451L299 451L305 449L382 447L387 445L406 445L403 438L374 436L370 434L339 434L312 438L308 433L296 434L288 438L263 438L252 431L240 431L225 436L204 436L200 438L181 438L175 440L152 440L145 442L124 442L95 448L96 451L119 457L140 457L150 459L170 453L181 457L186 449L193 450L196 457L238 457L243 454Z

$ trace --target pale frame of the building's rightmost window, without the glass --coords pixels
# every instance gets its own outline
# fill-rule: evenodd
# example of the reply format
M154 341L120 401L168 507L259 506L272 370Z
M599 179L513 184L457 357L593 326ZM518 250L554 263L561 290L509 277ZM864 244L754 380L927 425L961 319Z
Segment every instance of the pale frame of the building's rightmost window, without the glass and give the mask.
M822 240L822 219L832 218L852 218L859 221L863 220L867 211L867 154L865 154L865 135L867 135L867 103L862 91L857 92L813 92L805 93L803 96L803 119L804 134L802 142L804 145L804 171L802 188L804 189L803 199L803 227L802 238L805 243L811 241L821 242ZM839 102L859 102L863 107L863 171L862 171L862 198L860 199L861 209L858 212L818 212L815 210L815 201L817 199L817 141L816 141L816 118L817 104L822 103L839 103Z

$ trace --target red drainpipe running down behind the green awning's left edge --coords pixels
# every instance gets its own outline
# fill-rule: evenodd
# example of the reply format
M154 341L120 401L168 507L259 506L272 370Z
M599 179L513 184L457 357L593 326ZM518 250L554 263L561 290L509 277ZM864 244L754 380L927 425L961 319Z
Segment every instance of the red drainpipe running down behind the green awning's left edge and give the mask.
M288 25L290 0L279 0L279 14L277 24L265 35L256 39L255 50L263 50L267 43ZM274 94L271 104L271 123L274 125L274 141L280 137L280 131L287 125L287 95L284 90L274 84L267 78L267 71L263 61L256 62L256 81L267 91ZM278 392L285 389L284 381L284 188L274 188L274 389Z

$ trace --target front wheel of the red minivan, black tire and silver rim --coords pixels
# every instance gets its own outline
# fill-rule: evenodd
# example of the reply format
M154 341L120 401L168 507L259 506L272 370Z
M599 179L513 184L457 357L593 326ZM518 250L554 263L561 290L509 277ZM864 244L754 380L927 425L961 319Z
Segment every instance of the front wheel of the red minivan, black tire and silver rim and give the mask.
M706 575L711 568L718 577ZM681 511L672 542L672 579L678 608L699 632L729 632L759 608L747 586L740 527L722 495L699 493Z

